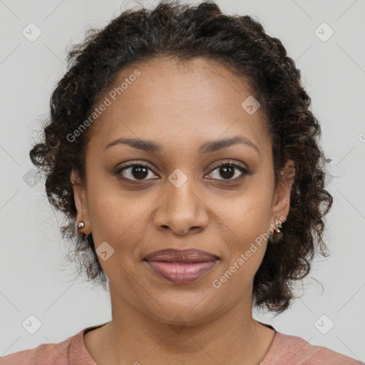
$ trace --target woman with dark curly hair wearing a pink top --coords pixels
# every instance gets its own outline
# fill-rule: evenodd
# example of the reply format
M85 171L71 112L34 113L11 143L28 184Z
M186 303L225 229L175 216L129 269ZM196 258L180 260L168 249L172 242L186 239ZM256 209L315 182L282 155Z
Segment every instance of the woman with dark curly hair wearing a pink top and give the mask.
M112 320L0 364L360 364L252 318L327 255L320 126L279 39L165 1L68 62L31 160Z

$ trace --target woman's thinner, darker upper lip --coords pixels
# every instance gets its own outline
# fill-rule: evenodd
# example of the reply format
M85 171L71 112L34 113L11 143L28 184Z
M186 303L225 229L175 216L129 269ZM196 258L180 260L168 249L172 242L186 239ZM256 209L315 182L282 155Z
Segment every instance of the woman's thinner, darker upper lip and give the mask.
M152 252L145 257L148 261L167 261L167 262L204 262L216 261L216 255L201 250L174 250L166 249Z

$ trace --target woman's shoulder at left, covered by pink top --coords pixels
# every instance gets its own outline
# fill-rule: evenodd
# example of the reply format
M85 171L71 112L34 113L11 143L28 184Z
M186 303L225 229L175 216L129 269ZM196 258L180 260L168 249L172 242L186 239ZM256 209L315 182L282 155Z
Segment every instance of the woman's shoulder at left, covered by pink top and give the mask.
M84 330L57 344L40 344L34 349L26 349L0 357L0 365L68 365L72 356L72 345L80 339Z

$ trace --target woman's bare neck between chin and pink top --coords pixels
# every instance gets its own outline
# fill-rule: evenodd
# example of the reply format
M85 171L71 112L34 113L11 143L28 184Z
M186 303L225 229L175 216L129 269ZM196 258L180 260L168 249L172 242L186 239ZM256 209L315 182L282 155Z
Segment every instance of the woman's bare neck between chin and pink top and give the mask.
M94 331L93 342L93 331L85 338L101 364L259 364L274 338L252 318L252 297L214 318L198 321L187 313L163 322L130 305L112 285L110 296L112 321Z

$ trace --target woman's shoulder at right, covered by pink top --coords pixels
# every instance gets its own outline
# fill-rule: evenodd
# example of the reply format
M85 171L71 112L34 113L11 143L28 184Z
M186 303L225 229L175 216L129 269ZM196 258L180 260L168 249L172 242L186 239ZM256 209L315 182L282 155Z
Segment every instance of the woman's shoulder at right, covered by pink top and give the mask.
M261 365L362 365L358 360L324 346L316 346L298 336L277 331Z

